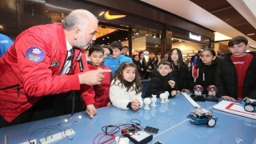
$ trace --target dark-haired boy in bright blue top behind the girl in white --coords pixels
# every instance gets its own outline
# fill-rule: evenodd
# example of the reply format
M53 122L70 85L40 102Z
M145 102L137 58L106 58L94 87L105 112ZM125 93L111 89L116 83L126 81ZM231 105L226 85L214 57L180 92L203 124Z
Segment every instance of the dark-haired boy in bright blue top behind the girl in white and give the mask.
M121 54L122 43L114 41L110 44L110 48L113 50L113 54L104 59L104 64L111 69L112 74L114 75L115 70L118 70L118 67L122 62L133 62L131 58L126 57Z

